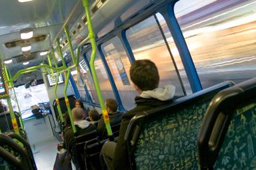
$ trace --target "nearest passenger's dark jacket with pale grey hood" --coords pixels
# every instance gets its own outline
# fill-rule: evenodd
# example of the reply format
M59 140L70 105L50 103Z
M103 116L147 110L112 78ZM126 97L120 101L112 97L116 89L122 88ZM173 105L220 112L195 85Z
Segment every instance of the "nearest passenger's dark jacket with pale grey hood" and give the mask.
M125 141L124 137L131 118L142 111L149 111L150 109L159 107L159 105L170 103L174 95L175 87L168 85L153 91L143 91L139 97L135 97L135 104L137 106L131 111L124 113L122 117L119 138L117 139L111 169L129 169L127 141Z

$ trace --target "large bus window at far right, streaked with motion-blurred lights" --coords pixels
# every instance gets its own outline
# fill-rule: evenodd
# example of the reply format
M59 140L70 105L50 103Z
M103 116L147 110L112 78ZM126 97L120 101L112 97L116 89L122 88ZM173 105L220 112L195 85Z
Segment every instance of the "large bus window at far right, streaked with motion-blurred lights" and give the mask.
M203 88L256 76L255 1L178 1L174 11Z

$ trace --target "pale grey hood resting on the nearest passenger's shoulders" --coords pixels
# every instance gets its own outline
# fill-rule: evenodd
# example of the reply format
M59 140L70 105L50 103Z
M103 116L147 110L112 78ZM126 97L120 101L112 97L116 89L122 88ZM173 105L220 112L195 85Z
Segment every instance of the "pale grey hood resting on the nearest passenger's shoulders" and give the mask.
M160 101L167 101L173 99L175 95L175 86L165 85L163 87L158 87L150 91L143 91L140 97L143 98L154 98L159 99Z

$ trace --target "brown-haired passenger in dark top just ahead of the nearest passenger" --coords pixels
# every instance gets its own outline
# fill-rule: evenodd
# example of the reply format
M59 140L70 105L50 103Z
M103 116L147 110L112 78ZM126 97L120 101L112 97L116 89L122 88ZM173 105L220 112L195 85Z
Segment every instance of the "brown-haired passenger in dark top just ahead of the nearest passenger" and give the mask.
M115 99L107 99L105 102L107 113L109 114L110 125L121 123L123 113L117 111L118 104ZM103 117L99 120L98 127L99 139L107 139L107 129Z

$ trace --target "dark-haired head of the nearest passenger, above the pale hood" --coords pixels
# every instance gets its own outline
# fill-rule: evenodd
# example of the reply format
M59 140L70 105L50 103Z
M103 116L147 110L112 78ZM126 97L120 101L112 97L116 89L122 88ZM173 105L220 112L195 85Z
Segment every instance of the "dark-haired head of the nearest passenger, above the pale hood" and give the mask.
M136 91L153 90L159 85L159 73L155 63L149 59L135 61L130 69L131 81L134 83Z

